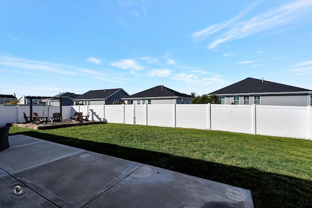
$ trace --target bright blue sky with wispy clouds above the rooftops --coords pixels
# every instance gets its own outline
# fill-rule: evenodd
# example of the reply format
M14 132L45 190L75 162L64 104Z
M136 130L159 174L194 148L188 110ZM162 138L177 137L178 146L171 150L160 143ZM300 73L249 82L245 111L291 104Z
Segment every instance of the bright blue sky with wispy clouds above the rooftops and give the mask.
M312 89L312 1L0 1L0 94L203 95L247 77Z

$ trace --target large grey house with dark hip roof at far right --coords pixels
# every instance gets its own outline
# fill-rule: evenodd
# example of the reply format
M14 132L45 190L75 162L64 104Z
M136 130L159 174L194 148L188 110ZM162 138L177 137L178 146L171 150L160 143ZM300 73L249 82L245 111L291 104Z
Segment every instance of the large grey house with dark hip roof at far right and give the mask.
M221 104L236 105L311 105L312 90L255 78L246 78L210 93L220 97Z

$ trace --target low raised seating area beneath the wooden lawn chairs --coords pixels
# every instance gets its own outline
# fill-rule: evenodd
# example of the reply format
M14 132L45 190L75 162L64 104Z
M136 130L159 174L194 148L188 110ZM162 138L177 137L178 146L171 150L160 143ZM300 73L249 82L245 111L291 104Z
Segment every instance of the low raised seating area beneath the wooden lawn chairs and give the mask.
M12 123L12 127L22 127L26 129L35 129L35 130L46 130L46 129L59 129L71 126L84 126L90 124L106 124L106 121L83 121L82 123L76 122L65 122L65 123L51 123L48 122L47 124L31 124L31 123Z

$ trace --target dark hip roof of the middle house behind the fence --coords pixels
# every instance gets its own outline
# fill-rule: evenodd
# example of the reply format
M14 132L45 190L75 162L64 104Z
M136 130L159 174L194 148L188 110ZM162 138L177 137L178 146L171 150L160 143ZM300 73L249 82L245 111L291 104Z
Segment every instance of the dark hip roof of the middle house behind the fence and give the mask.
M130 95L125 99L130 99L130 98L154 98L154 97L183 97L183 98L193 98L192 95L186 95L183 93L179 93L175 90L169 89L163 85L159 85L156 87L153 87L148 90L144 90L142 92L139 92L134 95Z

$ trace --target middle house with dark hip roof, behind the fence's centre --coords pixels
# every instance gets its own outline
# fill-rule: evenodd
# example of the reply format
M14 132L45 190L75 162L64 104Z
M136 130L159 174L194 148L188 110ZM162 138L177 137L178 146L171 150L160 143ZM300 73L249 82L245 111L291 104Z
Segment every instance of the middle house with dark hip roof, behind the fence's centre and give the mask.
M126 104L191 104L193 97L163 85L123 98Z

